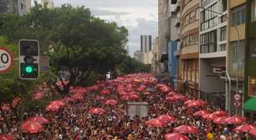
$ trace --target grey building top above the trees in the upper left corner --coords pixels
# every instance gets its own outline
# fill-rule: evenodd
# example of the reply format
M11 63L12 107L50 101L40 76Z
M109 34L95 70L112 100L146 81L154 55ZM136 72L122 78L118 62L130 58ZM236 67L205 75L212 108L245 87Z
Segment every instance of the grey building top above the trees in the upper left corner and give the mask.
M31 5L29 0L1 0L0 13L13 13L24 15L28 13Z

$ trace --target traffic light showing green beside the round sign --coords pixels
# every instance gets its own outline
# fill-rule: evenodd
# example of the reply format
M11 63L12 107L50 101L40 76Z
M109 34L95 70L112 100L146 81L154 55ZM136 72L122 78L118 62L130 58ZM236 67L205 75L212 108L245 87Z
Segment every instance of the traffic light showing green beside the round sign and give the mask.
M20 40L19 77L37 79L39 77L39 42L37 40Z

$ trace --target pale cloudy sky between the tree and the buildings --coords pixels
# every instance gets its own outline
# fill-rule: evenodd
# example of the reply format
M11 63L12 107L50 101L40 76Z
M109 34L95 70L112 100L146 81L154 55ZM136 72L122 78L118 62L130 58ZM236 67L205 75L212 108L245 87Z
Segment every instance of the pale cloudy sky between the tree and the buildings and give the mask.
M54 0L54 6L59 7L67 2L73 6L89 7L95 16L125 26L129 30L131 56L141 48L141 35L156 37L156 0Z

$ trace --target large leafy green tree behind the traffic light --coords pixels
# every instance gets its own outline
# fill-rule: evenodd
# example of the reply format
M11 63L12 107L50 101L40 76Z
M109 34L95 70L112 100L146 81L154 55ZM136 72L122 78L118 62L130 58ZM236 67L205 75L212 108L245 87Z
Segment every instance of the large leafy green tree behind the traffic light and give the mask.
M0 19L0 35L9 42L39 40L42 55L51 57L53 83L60 80L63 84L64 88L55 84L62 94L67 94L71 86L83 84L92 72L114 70L126 54L128 31L93 17L88 8L63 5L49 10L37 6L26 16L2 15ZM67 84L61 72L69 73Z

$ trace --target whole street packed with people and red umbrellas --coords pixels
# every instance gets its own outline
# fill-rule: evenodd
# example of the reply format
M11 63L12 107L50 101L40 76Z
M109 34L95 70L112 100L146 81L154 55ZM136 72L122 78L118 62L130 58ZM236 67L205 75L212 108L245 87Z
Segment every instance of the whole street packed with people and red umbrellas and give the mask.
M33 96L39 100L45 92L47 87L39 87ZM147 102L147 115L131 116L128 102ZM7 111L1 118L4 113L11 125L2 119L0 140L256 139L254 122L176 92L148 73L70 87L68 96L49 102L44 110L25 110L23 122L2 110Z

